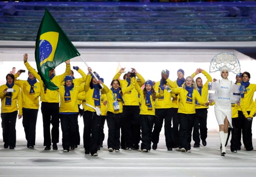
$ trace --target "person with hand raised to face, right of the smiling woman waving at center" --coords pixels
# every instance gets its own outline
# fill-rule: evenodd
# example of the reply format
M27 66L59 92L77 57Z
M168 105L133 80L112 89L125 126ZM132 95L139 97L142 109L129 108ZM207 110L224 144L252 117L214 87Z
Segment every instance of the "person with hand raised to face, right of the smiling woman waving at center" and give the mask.
M175 82L171 81L169 78L169 71L162 70L161 72L161 80L156 82L154 85L154 90L158 93L161 92L161 88L166 85L170 85L170 87L176 87ZM172 147L174 146L173 140L173 132L172 132L172 118L173 118L173 102L171 98L171 94L164 90L164 95L161 98L156 98L156 119L154 122L154 129L152 132L152 149L157 149L157 144L159 142L159 135L162 129L162 124L164 120L164 136L165 136L165 144L168 151L172 151Z

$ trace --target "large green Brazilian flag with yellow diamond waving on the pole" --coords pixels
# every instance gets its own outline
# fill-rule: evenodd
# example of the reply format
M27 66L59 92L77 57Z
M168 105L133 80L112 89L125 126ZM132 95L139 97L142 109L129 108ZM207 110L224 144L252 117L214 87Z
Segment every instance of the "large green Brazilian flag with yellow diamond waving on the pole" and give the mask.
M58 89L51 82L49 71L68 59L80 56L80 53L47 9L38 30L35 48L37 70L44 85L49 90Z

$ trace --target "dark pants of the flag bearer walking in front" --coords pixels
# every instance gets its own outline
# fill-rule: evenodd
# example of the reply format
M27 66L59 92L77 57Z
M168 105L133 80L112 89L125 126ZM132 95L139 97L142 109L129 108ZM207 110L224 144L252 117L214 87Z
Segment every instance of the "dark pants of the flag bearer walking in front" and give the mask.
M83 114L83 147L91 154L97 153L100 116L96 112L84 111Z

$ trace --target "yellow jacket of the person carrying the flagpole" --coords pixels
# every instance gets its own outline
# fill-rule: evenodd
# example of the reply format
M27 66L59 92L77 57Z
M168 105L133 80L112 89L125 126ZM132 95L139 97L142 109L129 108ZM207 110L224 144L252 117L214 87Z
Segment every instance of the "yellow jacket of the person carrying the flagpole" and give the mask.
M93 89L90 88L91 79L92 79L92 76L88 75L85 80L85 84L84 84L85 102L95 107L94 99L93 99L94 88ZM104 88L101 89L101 94L107 94L109 92L109 88L104 83L102 83L102 85L104 86ZM86 106L86 105L84 107L84 111L96 112L92 107Z

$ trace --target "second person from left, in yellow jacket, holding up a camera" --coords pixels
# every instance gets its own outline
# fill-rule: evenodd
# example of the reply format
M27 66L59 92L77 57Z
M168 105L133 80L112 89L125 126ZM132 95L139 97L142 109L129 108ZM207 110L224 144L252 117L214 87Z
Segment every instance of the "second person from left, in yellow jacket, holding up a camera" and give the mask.
M31 72L28 71L27 81L17 80L21 72L14 75L15 84L21 88L22 95L22 112L27 148L34 148L36 144L36 124L39 109L40 83Z

